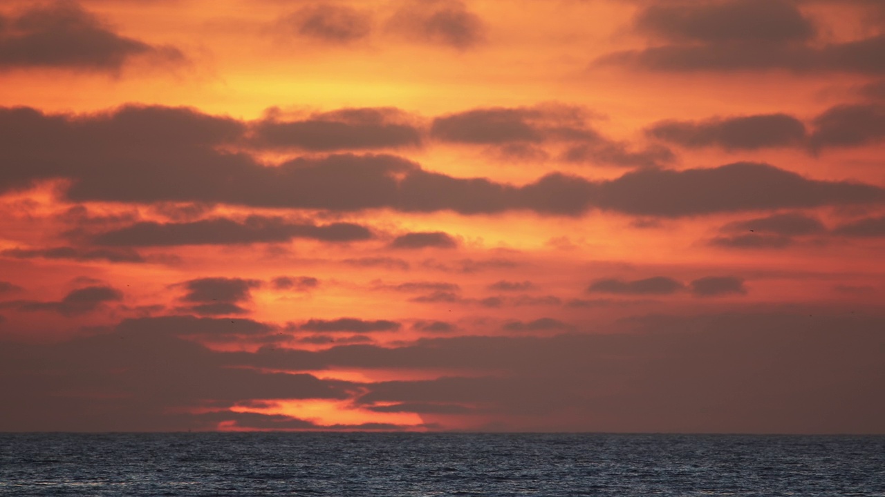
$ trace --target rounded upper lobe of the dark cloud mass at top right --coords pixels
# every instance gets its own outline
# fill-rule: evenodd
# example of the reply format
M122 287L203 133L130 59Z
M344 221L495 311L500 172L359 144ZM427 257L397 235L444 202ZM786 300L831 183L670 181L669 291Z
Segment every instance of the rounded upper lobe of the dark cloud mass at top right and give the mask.
M815 34L811 21L787 0L651 4L636 16L635 25L690 42L802 42Z

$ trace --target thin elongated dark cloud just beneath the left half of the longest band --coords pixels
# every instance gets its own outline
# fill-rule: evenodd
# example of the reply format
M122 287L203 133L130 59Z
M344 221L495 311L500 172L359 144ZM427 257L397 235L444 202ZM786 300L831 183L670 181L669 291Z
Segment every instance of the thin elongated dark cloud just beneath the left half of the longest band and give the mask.
M280 217L250 216L242 222L227 218L189 223L144 221L100 233L93 241L99 245L117 247L158 247L280 242L293 238L348 242L369 240L373 238L373 234L365 226L352 223L316 226L310 223L293 223Z

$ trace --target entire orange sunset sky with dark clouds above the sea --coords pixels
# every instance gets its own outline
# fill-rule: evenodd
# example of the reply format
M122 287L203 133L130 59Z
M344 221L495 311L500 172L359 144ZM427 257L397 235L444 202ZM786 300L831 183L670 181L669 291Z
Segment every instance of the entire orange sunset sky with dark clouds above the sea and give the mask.
M885 433L885 2L0 2L0 431Z

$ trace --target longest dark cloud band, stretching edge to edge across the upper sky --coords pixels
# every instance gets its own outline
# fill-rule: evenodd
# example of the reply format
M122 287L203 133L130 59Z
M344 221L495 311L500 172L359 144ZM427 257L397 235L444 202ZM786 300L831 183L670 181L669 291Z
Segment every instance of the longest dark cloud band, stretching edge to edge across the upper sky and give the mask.
M0 190L63 177L74 180L67 191L74 201L461 214L534 210L570 216L598 208L662 217L873 203L885 198L879 187L810 180L755 163L682 171L643 169L599 181L550 173L523 186L427 172L389 155L300 157L266 167L249 156L213 148L235 141L243 128L231 119L185 109L125 107L79 119L5 109L0 111L0 159L14 165L0 170ZM48 142L53 146L46 147ZM158 233L164 229L145 226ZM233 233L242 232L237 226L231 228ZM320 228L305 229L322 236Z

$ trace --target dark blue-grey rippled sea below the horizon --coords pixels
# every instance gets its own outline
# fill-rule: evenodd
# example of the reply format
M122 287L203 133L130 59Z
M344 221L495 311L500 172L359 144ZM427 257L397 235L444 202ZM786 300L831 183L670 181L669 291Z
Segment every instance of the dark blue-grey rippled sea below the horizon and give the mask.
M0 495L885 496L885 437L0 433Z

